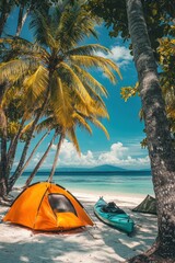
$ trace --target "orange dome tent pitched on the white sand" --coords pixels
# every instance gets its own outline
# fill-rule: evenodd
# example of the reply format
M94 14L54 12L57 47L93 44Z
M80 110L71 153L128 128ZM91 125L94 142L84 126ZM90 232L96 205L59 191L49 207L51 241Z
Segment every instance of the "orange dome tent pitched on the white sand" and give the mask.
M2 220L35 230L93 226L83 206L70 192L48 182L35 183L24 190Z

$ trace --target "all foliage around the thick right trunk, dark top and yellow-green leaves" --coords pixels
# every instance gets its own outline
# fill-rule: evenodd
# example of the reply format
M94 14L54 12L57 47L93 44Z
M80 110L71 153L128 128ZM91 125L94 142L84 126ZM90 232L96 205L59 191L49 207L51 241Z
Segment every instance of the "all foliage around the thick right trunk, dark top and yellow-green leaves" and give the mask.
M91 11L105 20L106 26L110 30L110 36L121 35L124 41L129 41L128 18L126 12L126 1L96 1L90 0L89 8ZM174 134L174 112L175 112L175 96L174 96L174 15L175 10L172 2L167 1L142 1L145 23L148 26L148 34L151 42L156 62L160 67L160 81L163 96L166 104L167 118L170 119L170 129L172 136ZM132 45L130 45L132 50ZM132 52L131 52L132 54ZM129 98L139 94L139 85L121 88L121 98L127 101ZM141 118L143 118L142 111L140 111ZM142 147L147 147L147 139L141 141Z

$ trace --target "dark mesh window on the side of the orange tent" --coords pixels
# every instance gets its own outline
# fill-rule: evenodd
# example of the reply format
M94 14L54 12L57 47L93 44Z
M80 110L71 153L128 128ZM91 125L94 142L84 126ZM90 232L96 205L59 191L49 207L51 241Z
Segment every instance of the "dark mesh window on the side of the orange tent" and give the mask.
M65 195L49 194L48 202L55 213L71 211L77 216L73 205Z

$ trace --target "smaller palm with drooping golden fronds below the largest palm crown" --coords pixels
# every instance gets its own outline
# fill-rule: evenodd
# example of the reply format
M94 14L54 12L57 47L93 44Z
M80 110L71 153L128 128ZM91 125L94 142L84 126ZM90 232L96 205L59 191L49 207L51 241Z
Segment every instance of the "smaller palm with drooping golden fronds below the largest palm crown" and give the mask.
M31 173L31 175L28 176L28 179L26 180L25 183L25 187L27 187L30 185L30 183L32 182L33 178L35 176L37 170L39 169L39 167L42 165L42 163L45 161L48 151L50 150L54 140L56 139L56 137L59 137L59 141L57 144L57 151L56 151L56 156L55 156L55 160L52 163L52 168L49 174L49 179L48 181L52 180L52 175L55 173L55 169L57 165L57 161L58 161L58 156L60 152L60 147L61 144L63 142L63 139L66 136L68 136L70 138L70 140L73 142L73 146L75 147L77 151L80 153L80 148L79 148L79 142L75 136L75 127L80 126L82 128L85 128L90 134L92 134L92 129L89 125L89 122L96 125L97 127L100 127L106 135L106 137L108 138L108 133L106 130L106 128L103 126L103 124L97 119L98 117L107 117L108 118L108 114L107 114L107 110L105 107L105 104L103 103L102 99L100 100L98 98L96 98L96 100L93 101L93 103L91 105L89 105L89 108L86 108L86 105L84 106L84 104L82 104L82 101L80 101L80 99L77 95L72 95L72 91L71 91L71 105L66 105L66 102L68 101L68 91L65 90L65 98L62 98L62 107L59 111L59 123L58 119L54 116L52 113L49 112L49 116L44 119L42 123L39 123L36 127L37 132L42 132L45 129L55 129L55 135L48 146L48 148L46 149L45 153L43 155L43 157L40 158L39 162L36 164L34 171ZM80 105L81 103L81 105ZM63 108L63 105L66 106L66 108ZM69 111L69 114L67 113ZM66 114L66 115L65 115ZM66 119L67 115L69 115L69 122L61 122L61 119ZM61 125L62 126L61 126Z

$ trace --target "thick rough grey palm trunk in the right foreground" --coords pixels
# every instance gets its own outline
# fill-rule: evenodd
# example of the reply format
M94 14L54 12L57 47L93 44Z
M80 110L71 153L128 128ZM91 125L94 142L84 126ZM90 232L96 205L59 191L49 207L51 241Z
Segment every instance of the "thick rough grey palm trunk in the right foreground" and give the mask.
M141 0L126 0L126 3L158 204L159 233L155 253L175 259L175 150Z

